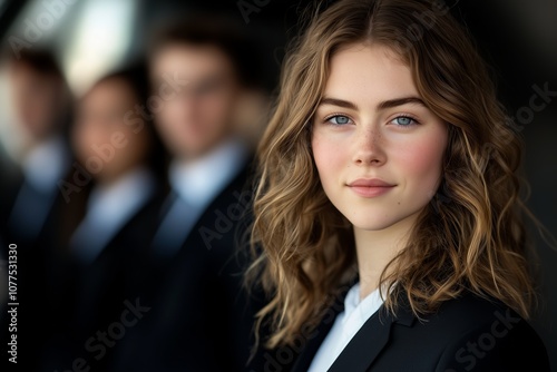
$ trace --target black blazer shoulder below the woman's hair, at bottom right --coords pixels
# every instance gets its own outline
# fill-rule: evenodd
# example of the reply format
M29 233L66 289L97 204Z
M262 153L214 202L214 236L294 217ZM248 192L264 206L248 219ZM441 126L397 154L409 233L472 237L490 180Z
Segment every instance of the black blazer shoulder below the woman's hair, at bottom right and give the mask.
M544 343L500 301L472 293L447 301L418 327L442 346L437 371L549 371Z

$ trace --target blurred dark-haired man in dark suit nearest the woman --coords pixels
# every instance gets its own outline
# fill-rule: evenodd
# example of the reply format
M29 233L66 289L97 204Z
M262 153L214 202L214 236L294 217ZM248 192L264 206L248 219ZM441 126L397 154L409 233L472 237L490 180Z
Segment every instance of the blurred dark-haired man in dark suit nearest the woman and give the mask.
M172 190L150 212L157 228L130 296L152 310L121 340L116 370L238 371L253 312L236 249L251 199L237 117L257 87L256 49L227 20L198 17L164 29L149 58Z

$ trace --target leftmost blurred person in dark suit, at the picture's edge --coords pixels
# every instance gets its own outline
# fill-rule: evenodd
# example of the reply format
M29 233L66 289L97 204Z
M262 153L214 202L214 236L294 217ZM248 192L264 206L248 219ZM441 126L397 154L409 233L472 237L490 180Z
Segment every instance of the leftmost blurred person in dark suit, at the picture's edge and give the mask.
M18 57L7 53L2 67L13 111L9 125L22 146L13 161L8 161L10 172L2 167L0 249L6 253L8 244L18 246L18 364L25 366L33 364L42 343L32 335L49 329L45 277L61 198L58 182L68 174L72 158L66 136L71 95L56 58L47 50L22 50ZM8 329L4 314L2 310L2 332Z

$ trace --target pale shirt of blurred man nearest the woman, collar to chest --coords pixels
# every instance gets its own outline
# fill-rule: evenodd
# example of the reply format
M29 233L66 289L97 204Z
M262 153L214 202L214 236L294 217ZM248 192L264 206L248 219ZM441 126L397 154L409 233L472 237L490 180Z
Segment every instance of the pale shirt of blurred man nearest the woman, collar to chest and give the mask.
M233 138L199 159L170 165L169 182L175 197L153 241L157 254L172 256L180 248L205 209L240 173L246 158L244 144Z

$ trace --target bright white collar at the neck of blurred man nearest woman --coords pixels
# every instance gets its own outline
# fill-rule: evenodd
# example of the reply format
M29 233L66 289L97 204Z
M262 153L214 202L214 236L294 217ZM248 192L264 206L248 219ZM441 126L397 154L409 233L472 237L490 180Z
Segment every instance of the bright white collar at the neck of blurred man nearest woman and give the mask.
M185 202L203 208L238 174L246 158L244 144L231 139L199 159L173 163L169 182Z

